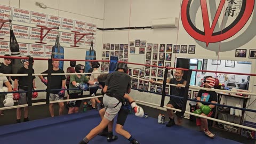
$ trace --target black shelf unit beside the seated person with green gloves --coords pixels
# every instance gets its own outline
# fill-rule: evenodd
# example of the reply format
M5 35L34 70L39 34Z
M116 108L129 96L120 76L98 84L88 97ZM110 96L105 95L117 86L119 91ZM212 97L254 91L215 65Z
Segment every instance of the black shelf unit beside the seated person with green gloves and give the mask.
M218 101L217 101L219 104L220 104L220 101L221 101L222 97L231 97L231 98L237 99L237 103L239 103L240 100L243 100L242 108L246 108L247 100L250 99L250 97L243 97L243 96L239 96L239 95L235 95L235 94L228 94L228 93L221 93L220 92L220 93L218 93ZM244 120L244 113L245 113L245 110L242 110L242 116L230 115L230 111L220 111L219 106L217 106L214 118L224 120L224 121L227 121L227 122L234 122L236 124L241 124L242 125L243 120ZM217 129L229 131L229 132L234 132L234 133L237 133L237 134L239 134L241 132L240 127L238 127L236 129L234 127L229 127L228 125L225 125L225 124L222 124L222 123L219 123L219 122L215 122L215 121L213 122L213 127L217 128Z

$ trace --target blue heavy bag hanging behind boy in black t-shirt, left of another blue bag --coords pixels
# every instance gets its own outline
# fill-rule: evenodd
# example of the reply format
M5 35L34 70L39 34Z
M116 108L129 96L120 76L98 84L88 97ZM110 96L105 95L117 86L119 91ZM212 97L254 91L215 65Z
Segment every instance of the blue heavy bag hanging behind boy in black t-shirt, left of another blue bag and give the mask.
M64 59L64 48L60 45L59 35L56 37L55 45L52 46L52 59ZM64 61L60 61L59 68L63 70Z

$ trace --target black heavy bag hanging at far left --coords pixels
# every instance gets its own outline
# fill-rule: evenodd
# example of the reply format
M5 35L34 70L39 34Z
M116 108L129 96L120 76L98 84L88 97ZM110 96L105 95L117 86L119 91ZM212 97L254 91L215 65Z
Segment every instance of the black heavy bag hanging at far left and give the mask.
M13 30L10 29L10 50L12 57L21 57L20 55L20 46L15 38ZM17 74L18 70L23 66L21 59L12 59L12 74ZM11 77L12 80L15 80L15 77Z

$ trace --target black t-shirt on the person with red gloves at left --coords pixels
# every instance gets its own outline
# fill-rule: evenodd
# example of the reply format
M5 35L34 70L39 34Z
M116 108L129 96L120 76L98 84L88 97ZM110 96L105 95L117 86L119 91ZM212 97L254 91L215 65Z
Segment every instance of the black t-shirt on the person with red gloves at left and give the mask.
M33 74L35 74L35 70L33 70ZM18 70L18 73L17 74L28 74L28 69L26 69L25 67L21 67L19 70ZM33 76L33 79L35 79L36 77ZM28 83L28 76L17 76L15 77L15 79L18 79L19 80L19 88L22 86L22 87L28 87L29 83ZM33 83L31 83L33 85Z

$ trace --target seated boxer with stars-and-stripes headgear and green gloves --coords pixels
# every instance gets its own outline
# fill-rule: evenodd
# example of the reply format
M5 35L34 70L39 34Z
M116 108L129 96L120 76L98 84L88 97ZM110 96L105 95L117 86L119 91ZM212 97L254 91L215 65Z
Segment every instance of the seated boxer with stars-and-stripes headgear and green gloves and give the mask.
M215 85L215 78L212 76L205 76L204 77L204 87L209 90L199 90L197 94L197 100L202 102L197 102L197 109L194 111L195 114L202 115L202 116L208 116L211 117L213 113L214 105L209 105L205 102L217 102L217 93L215 91L211 91L211 89L214 89ZM211 133L208 129L208 121L206 118L196 118L196 124L197 126L200 126L200 129L204 131L204 133L210 137L214 138L214 134Z

